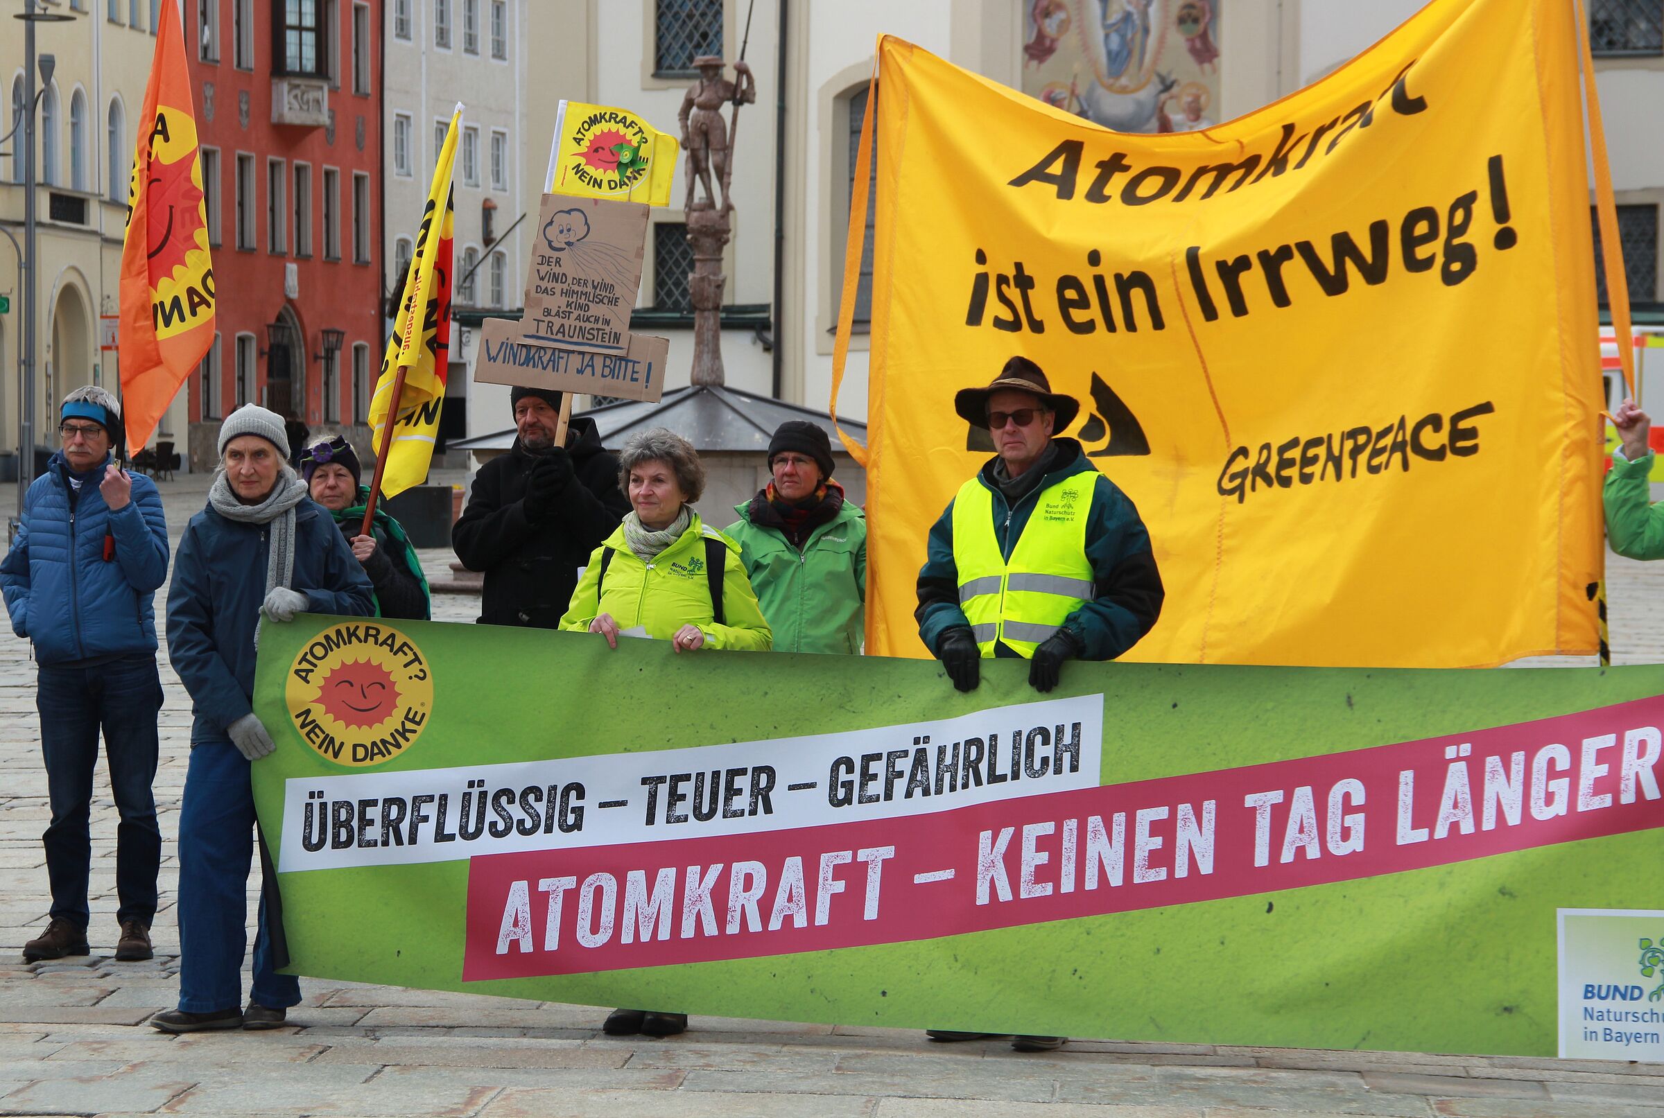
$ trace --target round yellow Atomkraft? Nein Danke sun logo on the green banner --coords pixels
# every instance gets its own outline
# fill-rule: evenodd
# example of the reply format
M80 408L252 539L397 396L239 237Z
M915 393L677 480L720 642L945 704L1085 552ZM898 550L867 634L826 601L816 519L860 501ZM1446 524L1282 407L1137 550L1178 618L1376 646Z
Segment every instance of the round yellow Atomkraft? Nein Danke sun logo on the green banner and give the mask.
M285 699L319 757L363 769L416 742L433 714L433 675L421 649L393 626L341 622L295 657Z

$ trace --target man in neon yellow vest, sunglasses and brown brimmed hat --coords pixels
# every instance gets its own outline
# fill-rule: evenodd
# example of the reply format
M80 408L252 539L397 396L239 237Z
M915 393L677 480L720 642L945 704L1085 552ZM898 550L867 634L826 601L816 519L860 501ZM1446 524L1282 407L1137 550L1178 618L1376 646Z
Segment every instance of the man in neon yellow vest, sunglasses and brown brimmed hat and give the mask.
M1161 574L1127 494L1080 443L1052 438L1080 403L1012 358L953 409L998 451L930 529L919 571L919 636L953 685L973 690L982 657L1020 655L1047 692L1063 660L1113 660L1138 644L1161 614Z

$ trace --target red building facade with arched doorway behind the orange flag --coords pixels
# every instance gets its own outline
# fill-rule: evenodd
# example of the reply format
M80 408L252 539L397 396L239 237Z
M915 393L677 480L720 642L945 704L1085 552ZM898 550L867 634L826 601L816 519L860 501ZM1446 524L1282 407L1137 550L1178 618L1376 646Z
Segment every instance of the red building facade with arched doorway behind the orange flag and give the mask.
M190 383L191 469L220 421L368 449L381 359L383 0L186 0L216 341Z

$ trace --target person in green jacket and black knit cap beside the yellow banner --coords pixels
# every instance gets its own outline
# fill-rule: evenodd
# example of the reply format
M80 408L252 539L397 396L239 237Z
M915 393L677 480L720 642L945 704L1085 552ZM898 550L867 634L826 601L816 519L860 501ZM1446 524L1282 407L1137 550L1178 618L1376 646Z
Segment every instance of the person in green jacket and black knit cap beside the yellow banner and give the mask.
M825 428L789 419L769 441L774 481L724 529L739 544L775 652L860 652L867 517L832 481Z

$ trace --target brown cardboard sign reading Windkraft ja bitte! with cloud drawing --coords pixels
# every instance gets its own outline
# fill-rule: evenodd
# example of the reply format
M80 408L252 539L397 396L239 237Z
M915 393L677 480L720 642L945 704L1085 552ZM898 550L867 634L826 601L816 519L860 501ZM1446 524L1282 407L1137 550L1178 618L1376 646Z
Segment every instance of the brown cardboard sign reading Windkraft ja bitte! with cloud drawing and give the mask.
M647 206L544 195L521 321L481 323L474 379L659 399L666 338L629 333Z

